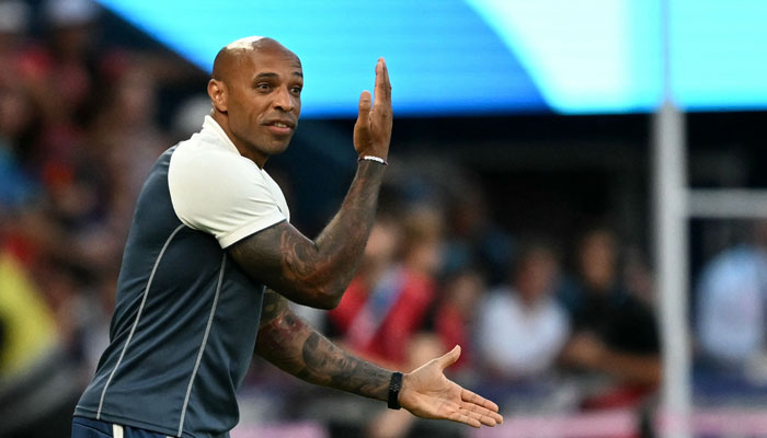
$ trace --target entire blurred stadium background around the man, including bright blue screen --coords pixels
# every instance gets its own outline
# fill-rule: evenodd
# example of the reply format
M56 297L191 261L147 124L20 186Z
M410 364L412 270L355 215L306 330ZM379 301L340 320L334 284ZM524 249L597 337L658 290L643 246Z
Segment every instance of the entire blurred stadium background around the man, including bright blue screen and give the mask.
M363 268L339 309L298 310L400 369L461 344L450 377L506 423L413 420L255 358L232 437L767 436L766 19L763 0L0 0L0 437L68 436L144 175L251 34L304 62L301 127L267 170L310 235L390 66Z

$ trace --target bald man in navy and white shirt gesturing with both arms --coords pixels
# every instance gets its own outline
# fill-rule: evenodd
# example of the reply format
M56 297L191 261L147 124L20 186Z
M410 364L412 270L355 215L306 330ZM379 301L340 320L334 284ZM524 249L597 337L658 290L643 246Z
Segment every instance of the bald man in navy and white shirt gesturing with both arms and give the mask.
M503 420L494 403L443 374L458 347L402 376L345 353L289 310L286 298L333 308L348 286L370 232L392 123L379 59L375 104L367 91L359 97L356 176L311 241L290 226L285 198L263 170L296 129L302 82L298 57L271 38L239 39L216 56L211 116L160 157L138 198L111 344L76 408L73 437L226 437L254 348L306 381L425 418L473 427Z

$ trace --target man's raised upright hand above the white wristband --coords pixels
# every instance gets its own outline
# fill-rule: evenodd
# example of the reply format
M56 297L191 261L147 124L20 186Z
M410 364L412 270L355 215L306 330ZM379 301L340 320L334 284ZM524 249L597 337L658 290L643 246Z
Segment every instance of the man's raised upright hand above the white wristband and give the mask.
M359 115L354 124L354 149L358 155L374 155L386 160L391 140L391 83L384 58L376 64L375 102L370 92L359 95Z

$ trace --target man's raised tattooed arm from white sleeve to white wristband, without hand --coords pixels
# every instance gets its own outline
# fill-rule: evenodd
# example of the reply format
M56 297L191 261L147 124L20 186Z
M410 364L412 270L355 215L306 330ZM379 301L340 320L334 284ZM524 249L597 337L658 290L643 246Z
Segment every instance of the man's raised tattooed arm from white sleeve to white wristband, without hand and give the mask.
M341 209L314 241L281 222L233 244L229 252L248 275L290 300L333 308L362 261L382 178L382 165L359 163Z

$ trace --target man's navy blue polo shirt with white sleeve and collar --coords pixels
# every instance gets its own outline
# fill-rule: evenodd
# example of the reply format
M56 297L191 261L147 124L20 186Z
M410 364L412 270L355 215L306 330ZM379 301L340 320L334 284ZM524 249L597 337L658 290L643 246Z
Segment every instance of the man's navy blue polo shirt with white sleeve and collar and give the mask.
M175 437L226 437L264 286L227 255L289 220L277 184L216 122L165 151L139 195L110 345L75 415Z

